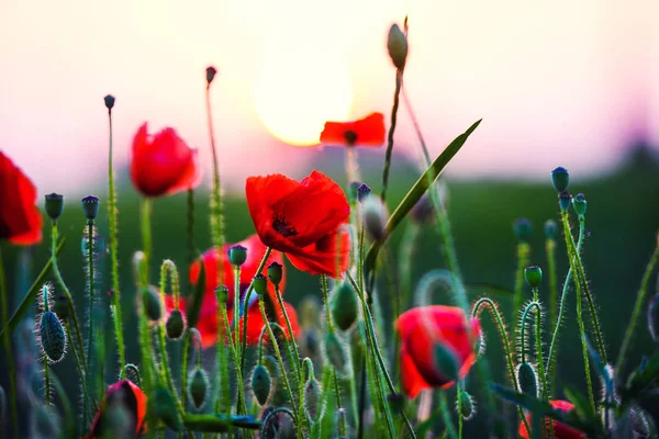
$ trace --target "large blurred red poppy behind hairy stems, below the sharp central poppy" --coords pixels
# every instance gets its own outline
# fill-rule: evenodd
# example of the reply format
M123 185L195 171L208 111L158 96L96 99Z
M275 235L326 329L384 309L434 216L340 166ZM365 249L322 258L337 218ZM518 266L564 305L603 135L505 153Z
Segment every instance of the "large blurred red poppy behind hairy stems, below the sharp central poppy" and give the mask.
M247 259L241 267L241 297L244 300L245 294L247 293L247 289L249 288L249 283L252 279L258 274L256 270L267 250L267 247L260 241L258 235L252 235L245 240L237 243L235 245L243 246L247 249ZM228 288L228 299L226 301L226 312L228 317L228 323L233 322L233 312L234 312L234 271L233 266L228 261L227 252L234 244L226 244L223 248L222 254L215 248L211 248L203 254L203 268L204 268L204 296L201 305L201 312L199 315L199 322L197 324L197 329L201 334L201 342L202 347L209 348L217 342L217 300L215 296L215 289L217 288L217 271L220 267L223 270L223 284ZM264 264L264 267L268 267L271 262L278 262L283 264L283 255L279 251L273 250L268 260ZM199 275L201 271L201 262L196 261L190 267L190 280L192 283L199 282ZM265 271L265 270L264 270ZM283 294L283 288L286 285L286 268L282 268L282 279L279 284L280 292ZM283 319L283 315L281 312L281 307L277 303L277 297L275 295L273 288L270 283L268 283L268 300L270 301L276 309L277 316L275 322L279 323L282 328L286 329L286 320ZM256 299L256 294L252 294L253 299ZM186 300L180 299L179 308L181 312L186 311ZM167 307L167 312L171 312L174 309L174 299L170 295L165 296L165 306ZM293 336L298 336L300 328L298 327L298 315L295 309L289 304L284 304L287 313L291 318L291 326L293 328ZM258 302L252 302L249 305L249 316L247 317L247 342L256 344L258 342L258 337L260 336L260 331L264 327L264 319L260 315L260 311L258 308ZM222 328L224 327L224 323L222 323ZM243 325L241 318L241 334L242 334Z

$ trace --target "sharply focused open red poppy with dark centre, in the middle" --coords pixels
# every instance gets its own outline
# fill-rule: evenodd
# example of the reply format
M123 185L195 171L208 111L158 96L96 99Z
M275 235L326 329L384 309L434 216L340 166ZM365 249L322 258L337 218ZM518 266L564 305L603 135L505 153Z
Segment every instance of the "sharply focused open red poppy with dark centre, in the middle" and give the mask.
M246 194L261 241L287 254L295 268L332 277L347 269L350 241L342 226L350 207L330 178L315 170L302 181L280 173L249 177Z

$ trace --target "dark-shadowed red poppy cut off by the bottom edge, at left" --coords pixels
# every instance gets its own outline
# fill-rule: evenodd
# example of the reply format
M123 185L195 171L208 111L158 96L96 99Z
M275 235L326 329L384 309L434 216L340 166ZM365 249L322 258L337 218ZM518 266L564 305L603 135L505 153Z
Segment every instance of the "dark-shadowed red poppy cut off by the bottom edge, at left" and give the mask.
M131 432L134 431L135 436L144 435L146 432L145 417L147 399L148 397L142 392L142 389L133 384L130 380L123 380L112 384L108 387L99 412L91 423L91 430L87 436L87 439L105 437L108 428L105 414L108 413L108 407L114 405L123 406L126 413L131 415L131 424L126 429Z

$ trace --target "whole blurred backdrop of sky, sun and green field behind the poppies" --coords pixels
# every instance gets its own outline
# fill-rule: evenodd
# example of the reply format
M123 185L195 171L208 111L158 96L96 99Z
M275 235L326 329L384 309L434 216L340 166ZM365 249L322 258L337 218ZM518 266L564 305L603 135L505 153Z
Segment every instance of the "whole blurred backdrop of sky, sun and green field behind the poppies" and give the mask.
M543 223L558 219L549 171L563 166L571 172L570 191L583 192L589 202L584 261L608 350L616 352L659 229L659 30L654 23L659 3L652 0L633 5L614 0L3 0L0 148L35 182L40 205L45 193L66 196L59 222L68 238L62 271L71 291L80 292L78 307L85 301L78 201L89 193L102 203L107 198L105 94L116 97L119 251L130 331L136 327L130 260L141 238L139 200L127 162L137 127L144 121L152 131L174 126L199 148L205 176L198 191L196 244L206 249L211 160L204 69L217 68L212 103L228 189L227 238L242 240L254 232L243 194L247 176L301 178L319 169L345 185L344 150L315 146L319 134L326 120L358 119L371 111L389 117L394 68L386 37L390 24L402 24L405 14L410 56L404 87L432 155L483 117L445 179L466 280L513 288L512 223L522 216L534 225L532 261L546 267ZM421 173L405 106L399 121L390 206ZM377 191L383 155L384 148L359 151L365 180ZM171 258L183 273L185 198L156 201L153 221L154 260ZM105 215L103 205L102 234ZM392 239L394 257L400 235ZM46 232L34 249L7 246L11 309L45 263L48 239ZM434 227L424 228L422 243L414 284L424 272L444 267ZM558 252L562 283L568 267L562 245ZM316 279L289 269L289 302L320 297ZM650 293L655 282L654 277ZM105 271L104 290L109 283ZM381 291L383 306L387 295L395 293ZM473 291L474 299L478 294ZM510 316L511 297L500 292L496 299ZM559 369L559 380L584 389L572 301L573 294L559 357L559 364L567 365ZM503 381L503 354L489 322L485 331L494 376ZM652 350L641 323L628 368ZM136 345L130 346L130 358L138 358ZM72 364L67 358L56 372ZM75 379L65 384L77 391Z

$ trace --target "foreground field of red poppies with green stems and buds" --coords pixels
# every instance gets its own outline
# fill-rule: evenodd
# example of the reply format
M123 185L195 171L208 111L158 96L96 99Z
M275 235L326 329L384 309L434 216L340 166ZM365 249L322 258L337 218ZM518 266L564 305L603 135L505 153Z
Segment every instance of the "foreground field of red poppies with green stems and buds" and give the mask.
M629 352L640 331L659 337L659 295L650 295L659 240L638 280L632 315L606 324L582 257L588 202L570 192L570 173L558 166L546 183L556 196L546 215L558 212L544 224L546 266L533 263L532 225L522 218L513 226L514 284L505 292L512 306L499 304L501 292L492 285L469 284L440 177L480 121L435 158L416 126L425 170L400 202L391 202L394 187L402 187L390 171L406 32L406 24L394 24L389 33L396 85L391 114L330 121L319 133L321 144L345 153L344 179L317 170L301 181L283 175L247 178L254 233L238 243L226 239L231 211L208 99L217 80L213 67L205 71L212 191L208 209L201 209L209 241L196 227L198 151L176 130L150 133L146 123L136 128L130 161L131 182L141 194L138 232L120 229L112 117L121 101L112 95L99 105L109 126L108 193L80 201L79 234L62 225L64 196L37 201L30 177L0 151L0 249L41 243L49 248L18 306L9 305L10 271L3 269L14 267L7 255L15 252L0 258L8 376L0 387L0 436L657 437L644 407L659 390L659 351L637 363ZM380 147L381 180L371 188L364 183L358 155ZM154 233L154 204L177 193L187 195L187 210L167 214L185 218L187 245L157 260L154 241L168 237ZM417 275L413 266L423 229L438 235L440 246L433 252L434 269ZM141 245L122 259L126 233L138 234ZM60 270L63 248L78 239L83 291L70 288L77 281ZM557 263L562 259L567 272ZM131 267L130 280L121 279L120 267ZM317 280L317 291L299 306L284 300L284 291L294 288L292 270ZM476 296L468 293L474 288ZM133 306L123 296L135 297ZM573 325L579 337L562 337ZM605 341L610 328L624 333L616 351ZM579 354L560 367L578 371L570 376L579 382L558 379L558 352L566 345ZM75 392L63 384L71 380Z

